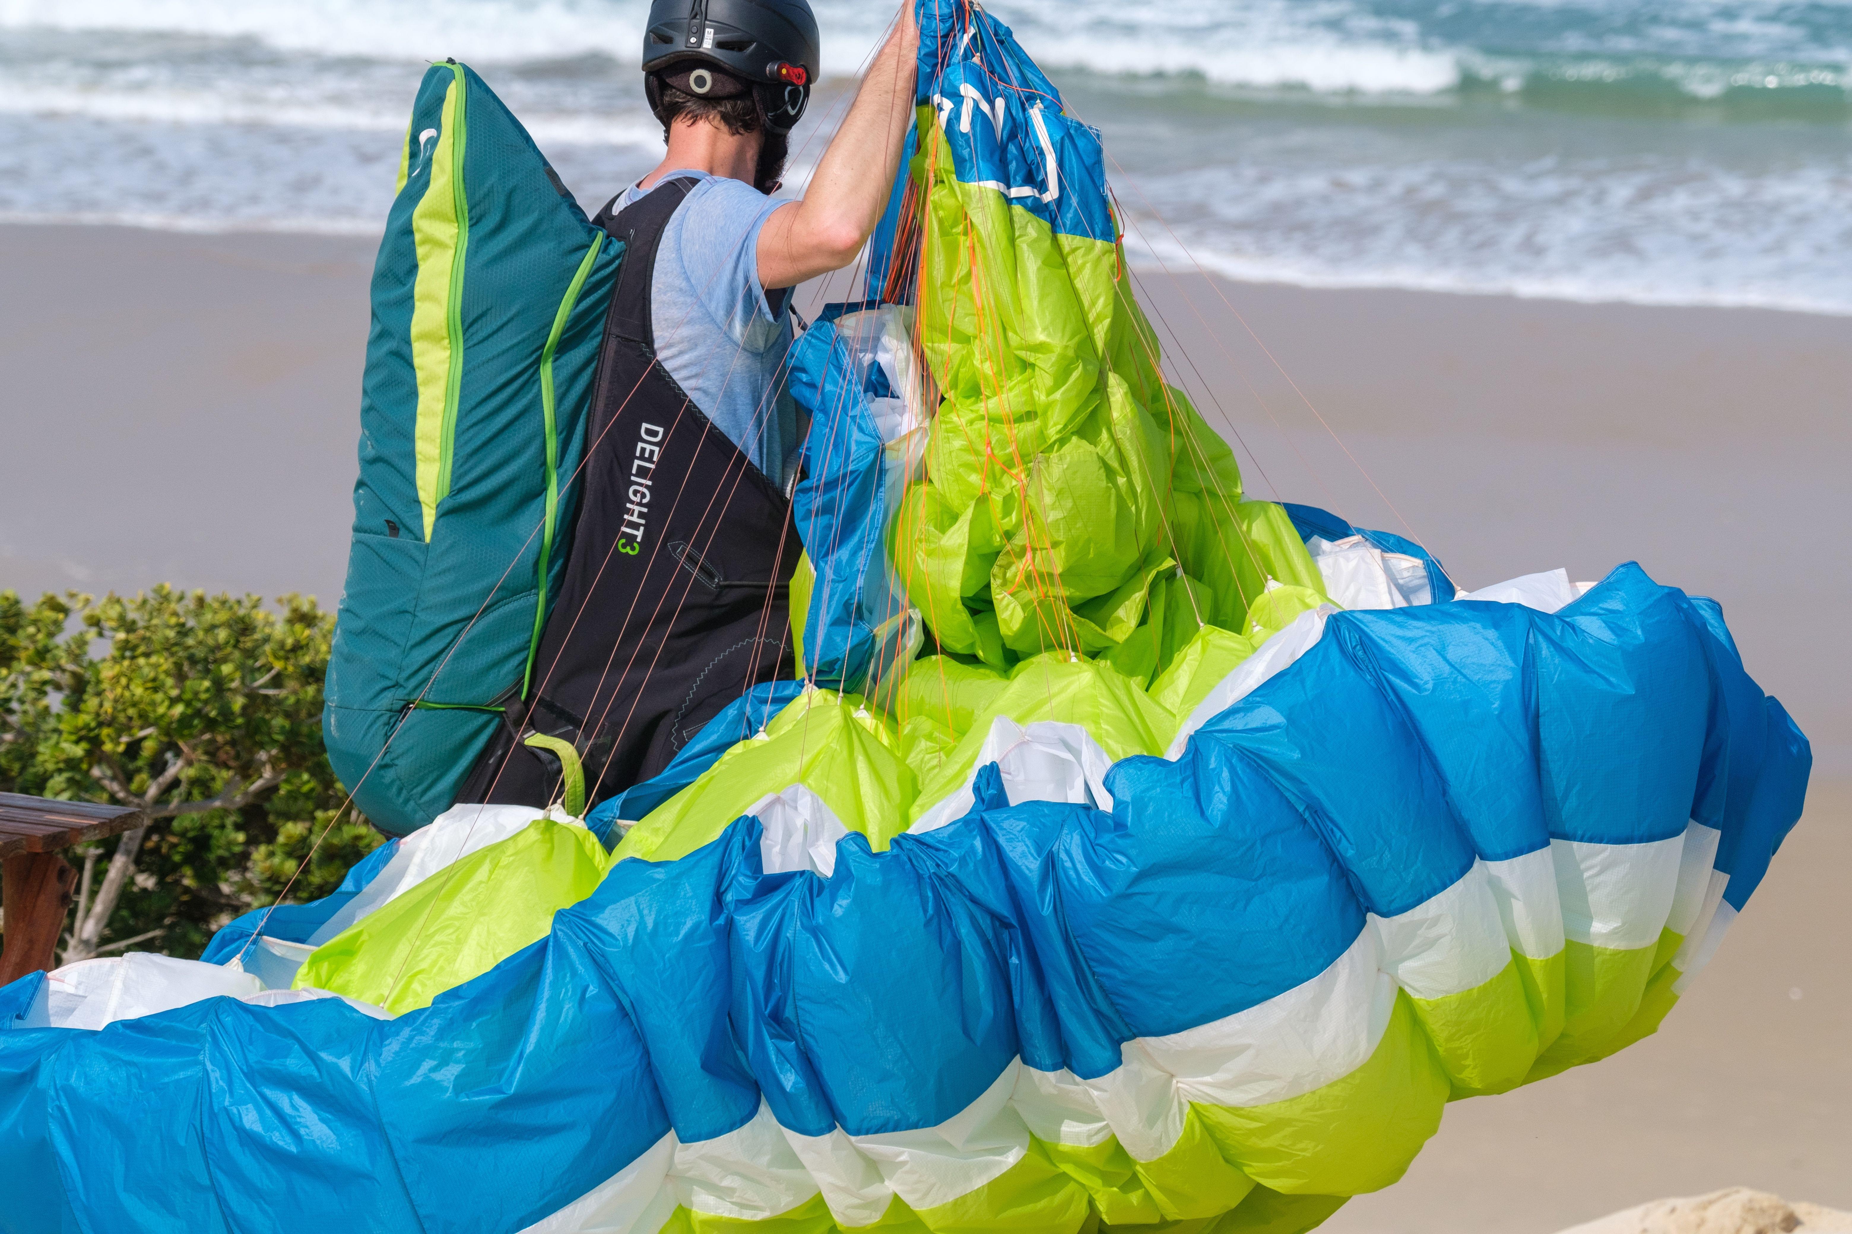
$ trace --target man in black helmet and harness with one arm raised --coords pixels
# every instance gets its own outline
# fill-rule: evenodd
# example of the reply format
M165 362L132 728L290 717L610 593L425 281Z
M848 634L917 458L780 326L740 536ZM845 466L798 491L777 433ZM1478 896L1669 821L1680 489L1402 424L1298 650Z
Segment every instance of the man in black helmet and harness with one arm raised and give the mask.
M582 512L535 660L463 801L587 801L661 771L720 709L795 670L800 446L791 290L856 261L913 120L911 2L802 202L770 198L819 76L806 0L656 0L644 91L667 154L593 220L626 246L587 424ZM530 740L530 738L539 740Z

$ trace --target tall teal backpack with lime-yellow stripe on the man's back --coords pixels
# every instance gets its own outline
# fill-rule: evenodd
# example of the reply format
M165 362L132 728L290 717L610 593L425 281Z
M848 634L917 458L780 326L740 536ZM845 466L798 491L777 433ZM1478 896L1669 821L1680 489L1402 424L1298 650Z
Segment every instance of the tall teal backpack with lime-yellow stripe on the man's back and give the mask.
M565 574L622 244L456 61L424 74L372 274L335 775L382 831L456 801Z

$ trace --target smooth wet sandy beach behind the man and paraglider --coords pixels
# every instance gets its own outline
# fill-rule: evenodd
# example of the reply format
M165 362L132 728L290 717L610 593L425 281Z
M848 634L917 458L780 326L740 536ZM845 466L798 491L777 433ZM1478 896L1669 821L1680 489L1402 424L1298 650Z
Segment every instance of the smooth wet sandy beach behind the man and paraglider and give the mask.
M0 588L333 607L370 265L359 239L0 226ZM1637 559L1722 601L1815 746L1808 818L1658 1038L1450 1108L1326 1228L1548 1234L1733 1184L1852 1208L1852 318L1135 278L1252 496L1413 535L1465 586Z

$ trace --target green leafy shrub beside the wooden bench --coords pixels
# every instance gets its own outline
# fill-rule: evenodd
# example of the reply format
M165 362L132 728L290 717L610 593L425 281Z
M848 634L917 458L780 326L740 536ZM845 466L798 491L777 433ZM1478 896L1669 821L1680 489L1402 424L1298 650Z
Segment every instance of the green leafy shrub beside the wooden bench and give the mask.
M154 820L67 851L83 877L63 962L124 945L196 956L285 890L326 895L380 844L343 812L322 751L332 636L333 616L298 596L0 592L0 792Z

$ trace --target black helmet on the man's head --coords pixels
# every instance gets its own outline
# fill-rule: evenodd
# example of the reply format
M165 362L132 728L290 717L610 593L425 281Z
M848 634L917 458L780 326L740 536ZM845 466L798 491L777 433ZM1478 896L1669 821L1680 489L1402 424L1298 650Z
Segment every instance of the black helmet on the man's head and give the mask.
M767 126L789 133L822 68L817 19L806 0L652 0L643 33L650 107L659 76L704 63L752 85Z

